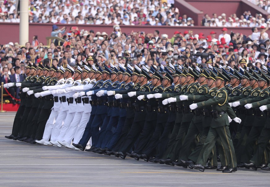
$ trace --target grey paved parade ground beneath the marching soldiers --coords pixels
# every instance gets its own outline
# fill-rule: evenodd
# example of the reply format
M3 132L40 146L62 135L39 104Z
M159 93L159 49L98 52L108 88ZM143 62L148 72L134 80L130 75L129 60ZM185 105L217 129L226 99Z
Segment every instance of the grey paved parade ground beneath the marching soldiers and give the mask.
M199 172L114 156L29 144L10 135L15 113L0 113L0 186L269 186L270 173Z

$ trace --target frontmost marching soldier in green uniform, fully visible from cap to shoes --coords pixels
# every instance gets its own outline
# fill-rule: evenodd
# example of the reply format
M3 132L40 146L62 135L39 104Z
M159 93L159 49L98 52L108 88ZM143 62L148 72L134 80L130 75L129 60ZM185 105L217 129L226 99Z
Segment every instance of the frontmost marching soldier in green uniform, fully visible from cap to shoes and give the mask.
M228 93L225 89L225 83L227 81L229 81L229 79L225 75L218 72L218 75L216 77L216 87L218 88L216 96L213 99L190 105L191 109L203 108L204 106L212 106L211 113L213 118L210 124L208 136L204 143L204 147L200 152L199 158L196 162L197 164L190 164L192 168L199 169L202 172L205 169L206 161L212 151L212 148L214 147L217 138L221 139L225 150L225 155L228 160L228 168L226 168L222 172L237 171L233 142L230 138L229 133L228 114L234 121L238 121L239 123L241 122L241 119L236 117L232 108L228 108Z

